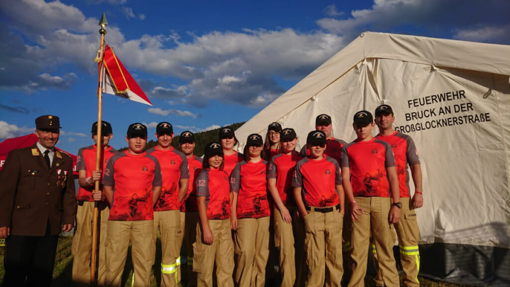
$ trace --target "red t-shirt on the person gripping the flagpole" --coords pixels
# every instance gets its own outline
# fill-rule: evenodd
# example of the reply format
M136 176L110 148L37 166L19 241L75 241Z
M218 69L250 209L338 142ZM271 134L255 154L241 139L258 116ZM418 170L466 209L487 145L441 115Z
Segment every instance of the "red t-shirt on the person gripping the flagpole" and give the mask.
M89 178L92 176L92 172L95 171L95 157L96 157L96 146L88 146L85 148L81 148L78 151L78 157L76 159L76 169L79 171L86 171L86 177ZM101 152L100 162L103 163L101 166L101 170L103 170L103 174L106 170L106 164L108 160L114 155L118 154L117 150L114 150L112 147L105 147L103 152ZM101 180L99 180L99 189L103 189L101 186ZM92 192L94 190L94 185L90 185L87 187L80 186L78 190L78 194L76 195L77 200L89 201L93 202Z

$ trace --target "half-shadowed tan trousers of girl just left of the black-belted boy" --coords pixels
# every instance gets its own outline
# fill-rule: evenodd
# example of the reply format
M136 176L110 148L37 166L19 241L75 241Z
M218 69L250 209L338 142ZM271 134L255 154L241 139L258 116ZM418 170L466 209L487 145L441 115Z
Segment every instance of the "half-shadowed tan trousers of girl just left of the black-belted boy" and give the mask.
M288 207L291 216L296 207ZM305 265L304 223L301 218L292 224L282 219L278 208L274 208L274 243L279 252L281 287L304 287L307 266ZM297 246L297 248L295 248Z

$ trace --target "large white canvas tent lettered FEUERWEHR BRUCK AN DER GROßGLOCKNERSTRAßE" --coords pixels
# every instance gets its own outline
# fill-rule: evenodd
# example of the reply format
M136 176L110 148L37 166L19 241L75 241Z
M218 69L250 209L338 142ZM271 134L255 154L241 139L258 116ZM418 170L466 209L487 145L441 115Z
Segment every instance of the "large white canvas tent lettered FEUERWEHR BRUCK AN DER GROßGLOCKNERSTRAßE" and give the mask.
M248 134L278 122L303 145L326 113L334 136L349 142L356 111L391 105L422 163L421 274L510 284L509 75L508 45L366 32L236 136L242 149Z

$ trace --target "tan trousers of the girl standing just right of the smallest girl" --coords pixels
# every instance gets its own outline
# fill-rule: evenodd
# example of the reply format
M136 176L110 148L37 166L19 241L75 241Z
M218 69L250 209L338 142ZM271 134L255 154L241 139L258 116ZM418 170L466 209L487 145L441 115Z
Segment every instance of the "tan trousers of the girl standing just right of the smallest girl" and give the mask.
M238 220L234 233L234 280L238 287L263 287L269 257L269 217Z

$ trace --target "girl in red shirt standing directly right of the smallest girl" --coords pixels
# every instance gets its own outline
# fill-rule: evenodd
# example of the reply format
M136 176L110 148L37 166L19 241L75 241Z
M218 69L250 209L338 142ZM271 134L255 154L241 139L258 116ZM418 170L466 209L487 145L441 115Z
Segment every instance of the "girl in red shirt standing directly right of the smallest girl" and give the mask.
M231 175L231 224L236 230L234 280L241 287L265 284L271 211L266 187L267 161L261 155L262 145L262 136L250 134L244 148L244 160L236 165Z

